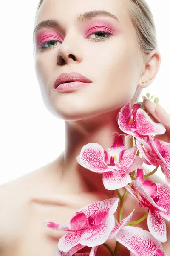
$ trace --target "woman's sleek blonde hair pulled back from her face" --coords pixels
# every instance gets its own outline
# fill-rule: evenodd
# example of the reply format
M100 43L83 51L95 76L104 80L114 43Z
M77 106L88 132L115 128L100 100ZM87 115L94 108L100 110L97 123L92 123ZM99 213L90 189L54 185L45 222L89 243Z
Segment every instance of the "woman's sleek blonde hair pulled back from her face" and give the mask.
M40 0L37 11L44 0ZM127 1L127 9L130 19L137 34L137 45L139 54L144 59L153 49L158 50L156 38L156 28L153 15L145 0L125 0ZM36 11L36 14L37 14ZM142 88L139 88L135 102L138 102Z

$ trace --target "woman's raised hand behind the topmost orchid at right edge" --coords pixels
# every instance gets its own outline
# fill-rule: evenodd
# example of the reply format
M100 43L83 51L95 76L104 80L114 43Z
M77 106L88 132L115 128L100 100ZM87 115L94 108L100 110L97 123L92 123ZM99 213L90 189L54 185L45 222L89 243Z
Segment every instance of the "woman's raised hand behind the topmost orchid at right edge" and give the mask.
M156 135L155 137L170 143L170 114L158 103L155 104L144 96L142 98L144 100L144 107L149 112L149 116L153 122L161 123L166 128L165 134Z

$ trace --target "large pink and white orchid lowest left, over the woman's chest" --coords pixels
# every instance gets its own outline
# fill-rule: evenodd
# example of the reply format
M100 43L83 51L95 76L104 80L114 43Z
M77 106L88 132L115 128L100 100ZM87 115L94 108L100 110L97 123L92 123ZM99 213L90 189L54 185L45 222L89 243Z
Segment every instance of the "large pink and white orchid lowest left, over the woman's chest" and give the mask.
M114 212L118 207L119 198L106 199L88 204L76 212L71 221L65 224L44 222L54 230L72 231L59 239L55 256L72 256L85 246L92 247L90 256L95 254L97 247L107 239L111 239L130 221L134 210L115 226Z

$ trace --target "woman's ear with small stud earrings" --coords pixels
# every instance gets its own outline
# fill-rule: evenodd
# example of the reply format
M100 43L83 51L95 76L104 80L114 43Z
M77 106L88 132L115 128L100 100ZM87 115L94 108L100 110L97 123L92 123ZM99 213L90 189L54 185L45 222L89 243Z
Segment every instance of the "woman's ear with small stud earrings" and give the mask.
M156 78L160 65L161 65L160 52L156 49L152 50L145 58L138 87L140 88L148 87Z

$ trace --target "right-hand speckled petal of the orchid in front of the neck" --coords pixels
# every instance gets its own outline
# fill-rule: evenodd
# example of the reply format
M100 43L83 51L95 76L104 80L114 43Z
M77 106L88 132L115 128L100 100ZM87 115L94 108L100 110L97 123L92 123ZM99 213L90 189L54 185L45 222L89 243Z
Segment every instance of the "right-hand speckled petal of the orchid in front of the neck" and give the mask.
M133 164L133 160L136 157L137 147L128 148L123 154L122 160L116 163L116 170L120 173L127 172L127 169Z

